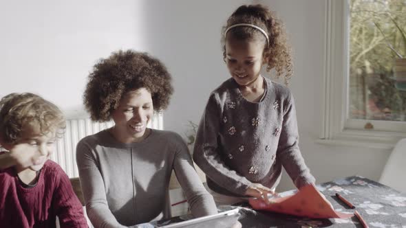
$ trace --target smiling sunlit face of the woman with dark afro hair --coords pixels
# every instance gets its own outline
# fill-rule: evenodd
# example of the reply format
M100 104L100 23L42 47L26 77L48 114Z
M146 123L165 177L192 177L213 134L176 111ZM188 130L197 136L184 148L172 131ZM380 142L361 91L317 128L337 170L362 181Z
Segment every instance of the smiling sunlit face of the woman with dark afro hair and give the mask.
M133 142L142 139L147 124L153 115L151 93L145 88L130 91L112 113L116 137L121 141Z

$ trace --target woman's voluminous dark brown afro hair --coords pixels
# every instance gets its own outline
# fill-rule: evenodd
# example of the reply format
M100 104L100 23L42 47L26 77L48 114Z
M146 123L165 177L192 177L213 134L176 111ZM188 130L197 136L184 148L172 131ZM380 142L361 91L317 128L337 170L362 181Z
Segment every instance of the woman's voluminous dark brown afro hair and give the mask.
M147 53L120 50L94 65L83 104L92 120L107 122L127 92L143 87L151 93L155 111L167 108L173 93L167 68Z

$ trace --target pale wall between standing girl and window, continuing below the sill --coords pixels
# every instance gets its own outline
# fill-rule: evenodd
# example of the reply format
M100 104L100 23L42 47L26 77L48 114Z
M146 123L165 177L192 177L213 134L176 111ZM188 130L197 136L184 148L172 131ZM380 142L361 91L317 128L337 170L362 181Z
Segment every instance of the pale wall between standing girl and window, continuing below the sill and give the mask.
M343 176L361 175L378 180L389 156L389 150L316 144L321 129L323 88L324 0L261 1L285 21L294 49L295 74L290 88L295 95L299 146L317 182ZM294 187L287 177L279 190Z

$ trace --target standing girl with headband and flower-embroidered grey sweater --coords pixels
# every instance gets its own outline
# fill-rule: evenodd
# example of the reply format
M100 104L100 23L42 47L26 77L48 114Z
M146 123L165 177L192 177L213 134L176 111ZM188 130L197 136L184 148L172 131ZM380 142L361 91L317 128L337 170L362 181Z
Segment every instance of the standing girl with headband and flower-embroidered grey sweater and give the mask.
M314 183L298 146L289 89L261 76L275 69L288 84L292 60L284 27L264 5L242 5L223 28L231 78L210 95L195 138L193 160L217 204L275 194L282 166L297 187Z

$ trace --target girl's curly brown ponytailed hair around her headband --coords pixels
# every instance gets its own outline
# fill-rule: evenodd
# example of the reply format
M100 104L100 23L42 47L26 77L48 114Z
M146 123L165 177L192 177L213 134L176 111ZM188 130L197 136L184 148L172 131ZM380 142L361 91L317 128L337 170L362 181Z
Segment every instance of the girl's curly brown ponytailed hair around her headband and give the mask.
M264 61L266 71L275 67L276 77L284 75L285 84L288 84L292 77L292 57L290 46L287 43L285 28L282 22L264 5L242 5L227 20L226 26L222 29L223 58L226 58L226 35L244 40L263 40L266 43L264 34L253 27L234 27L225 34L228 27L247 23L261 27L269 37L268 45L264 48Z

